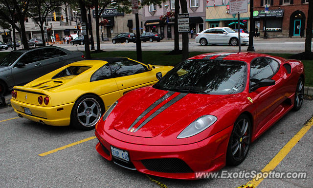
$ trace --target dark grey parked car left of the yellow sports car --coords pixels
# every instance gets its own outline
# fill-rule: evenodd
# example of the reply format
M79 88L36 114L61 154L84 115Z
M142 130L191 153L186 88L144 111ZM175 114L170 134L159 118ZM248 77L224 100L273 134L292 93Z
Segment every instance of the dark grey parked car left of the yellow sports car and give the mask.
M0 59L0 94L80 60L84 60L82 52L55 46L12 51Z

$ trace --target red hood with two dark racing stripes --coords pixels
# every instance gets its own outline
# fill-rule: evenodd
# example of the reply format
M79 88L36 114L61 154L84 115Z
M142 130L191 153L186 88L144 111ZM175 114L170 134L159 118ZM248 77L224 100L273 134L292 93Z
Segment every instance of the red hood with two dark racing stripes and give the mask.
M128 102L128 97L126 101L122 100L123 110L117 112L122 115L115 117L112 124L116 131L140 137L155 137L184 116L199 112L201 108L207 108L210 103L228 97L168 92L152 87L134 91L132 95L142 97L131 102ZM189 123L191 122L181 122L181 126L186 127Z

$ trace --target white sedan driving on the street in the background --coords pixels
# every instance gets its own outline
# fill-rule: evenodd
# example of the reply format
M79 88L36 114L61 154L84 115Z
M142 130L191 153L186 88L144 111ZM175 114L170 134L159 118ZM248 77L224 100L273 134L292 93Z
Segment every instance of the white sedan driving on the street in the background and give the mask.
M249 34L240 33L240 38L241 44L249 43ZM200 43L201 46L208 44L229 44L231 46L237 46L238 32L229 27L214 27L197 33L195 41Z

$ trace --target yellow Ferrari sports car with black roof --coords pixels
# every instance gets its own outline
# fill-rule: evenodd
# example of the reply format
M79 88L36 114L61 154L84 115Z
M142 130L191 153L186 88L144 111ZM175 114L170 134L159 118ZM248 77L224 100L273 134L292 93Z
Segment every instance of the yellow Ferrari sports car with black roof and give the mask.
M172 68L127 57L78 61L14 86L11 104L19 116L36 122L91 130L120 96L155 84Z

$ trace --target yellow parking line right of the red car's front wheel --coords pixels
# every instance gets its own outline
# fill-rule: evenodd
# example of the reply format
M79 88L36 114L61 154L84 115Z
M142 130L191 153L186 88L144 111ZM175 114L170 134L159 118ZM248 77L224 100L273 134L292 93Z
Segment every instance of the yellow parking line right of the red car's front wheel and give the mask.
M304 125L304 127L297 132L291 140L282 148L275 157L261 170L261 172L270 172L277 167L277 165L287 156L291 149L301 140L301 138L310 130L313 126L313 117ZM247 184L252 184L254 187L257 187L264 178L255 180L255 177L249 181Z

